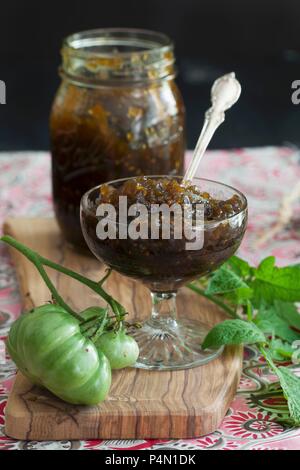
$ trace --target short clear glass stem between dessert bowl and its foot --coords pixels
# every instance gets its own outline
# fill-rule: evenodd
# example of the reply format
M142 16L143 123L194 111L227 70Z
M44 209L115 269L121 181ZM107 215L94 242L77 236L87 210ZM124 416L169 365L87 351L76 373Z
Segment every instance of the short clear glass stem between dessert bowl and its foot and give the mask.
M176 322L176 294L177 292L151 292L152 320Z

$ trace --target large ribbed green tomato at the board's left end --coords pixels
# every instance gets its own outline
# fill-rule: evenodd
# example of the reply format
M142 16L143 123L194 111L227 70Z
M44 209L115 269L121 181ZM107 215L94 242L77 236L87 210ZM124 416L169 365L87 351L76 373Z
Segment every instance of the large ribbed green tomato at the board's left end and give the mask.
M95 405L108 394L108 359L83 336L79 321L57 305L21 315L10 329L7 349L31 382L62 400Z

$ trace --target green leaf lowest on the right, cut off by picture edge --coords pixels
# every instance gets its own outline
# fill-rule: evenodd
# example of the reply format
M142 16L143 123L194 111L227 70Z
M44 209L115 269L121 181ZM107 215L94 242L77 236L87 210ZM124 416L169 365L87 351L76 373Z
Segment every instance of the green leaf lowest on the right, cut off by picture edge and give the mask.
M290 415L296 426L300 425L300 377L287 367L277 367L280 385L288 402Z

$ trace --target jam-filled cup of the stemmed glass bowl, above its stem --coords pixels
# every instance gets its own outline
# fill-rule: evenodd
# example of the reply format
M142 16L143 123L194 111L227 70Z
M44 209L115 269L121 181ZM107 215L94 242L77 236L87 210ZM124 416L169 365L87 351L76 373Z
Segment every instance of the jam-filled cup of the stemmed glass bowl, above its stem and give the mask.
M128 206L140 203L149 211L151 204L202 203L203 247L187 250L185 236L99 240L97 204L109 203L118 208L119 196L127 196ZM235 253L246 229L247 210L245 197L221 183L196 178L192 184L182 185L181 177L142 177L92 189L82 200L81 219L87 244L97 258L116 271L141 280L151 290L173 291L216 269Z

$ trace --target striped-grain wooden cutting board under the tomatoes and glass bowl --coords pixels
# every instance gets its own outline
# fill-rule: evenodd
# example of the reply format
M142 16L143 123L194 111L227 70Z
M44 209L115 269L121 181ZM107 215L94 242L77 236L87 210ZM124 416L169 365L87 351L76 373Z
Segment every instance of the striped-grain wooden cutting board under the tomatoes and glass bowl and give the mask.
M53 219L9 219L4 232L42 255L93 279L104 267L93 257L73 251L61 238ZM11 249L24 308L50 299L35 267ZM65 300L75 309L100 305L85 286L53 270L48 271ZM112 274L106 289L131 312L143 318L150 311L147 289ZM224 318L216 306L188 289L178 296L179 311L195 312L213 325ZM113 372L109 397L98 406L67 404L17 374L6 406L8 436L28 440L192 438L213 432L221 423L239 382L241 348L226 348L201 367L183 371L125 369Z

